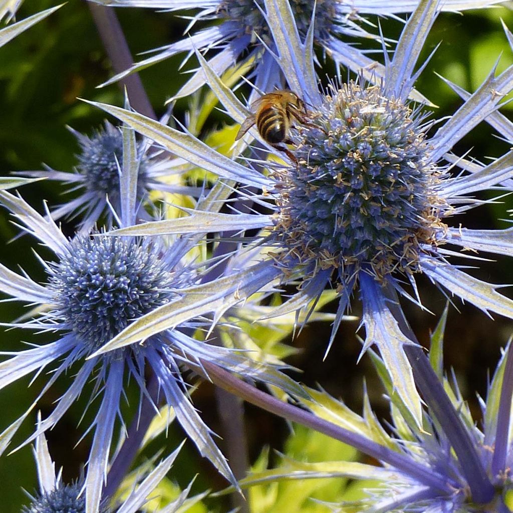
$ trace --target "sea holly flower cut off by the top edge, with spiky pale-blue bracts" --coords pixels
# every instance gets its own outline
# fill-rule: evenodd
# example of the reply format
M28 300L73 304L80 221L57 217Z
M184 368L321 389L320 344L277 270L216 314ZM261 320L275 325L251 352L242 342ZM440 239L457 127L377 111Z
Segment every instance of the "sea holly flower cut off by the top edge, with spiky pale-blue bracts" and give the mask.
M188 58L195 50L202 52L215 51L209 65L216 74L222 75L237 62L253 64L249 75L255 85L262 91L280 88L283 74L274 60L273 53L278 53L274 35L279 31L284 34L290 27L279 25L279 18L266 14L264 0L93 0L96 3L112 7L146 7L166 9L167 11L195 10L191 14L191 22L183 40L170 45L156 48L154 55L134 64L130 69L112 77L104 85L110 84L129 73L144 69L161 62L172 55L187 52ZM476 9L497 3L496 0L471 0L462 2L450 0L442 2L442 8L448 11ZM375 28L364 16L394 16L399 13L411 12L416 2L368 2L341 0L281 0L281 11L290 9L294 18L294 29L300 37L312 38L320 46L324 54L328 54L337 65L343 64L354 71L372 66L370 79L380 76L384 68L366 55L365 49L360 50L351 43L354 38L374 38L375 35L367 28ZM215 21L214 26L192 32L196 22ZM345 41L344 41L345 40ZM177 92L173 98L187 96L205 84L205 76L199 69ZM252 95L252 99L254 99Z

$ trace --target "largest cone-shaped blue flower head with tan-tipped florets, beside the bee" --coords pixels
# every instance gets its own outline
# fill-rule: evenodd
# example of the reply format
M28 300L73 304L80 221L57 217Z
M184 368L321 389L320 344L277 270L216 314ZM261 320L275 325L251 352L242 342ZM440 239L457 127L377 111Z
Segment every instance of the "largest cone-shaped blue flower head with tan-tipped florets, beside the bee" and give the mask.
M365 81L323 97L309 124L291 130L296 165L274 171L285 262L337 269L341 283L355 270L380 279L419 270L445 206L424 119Z

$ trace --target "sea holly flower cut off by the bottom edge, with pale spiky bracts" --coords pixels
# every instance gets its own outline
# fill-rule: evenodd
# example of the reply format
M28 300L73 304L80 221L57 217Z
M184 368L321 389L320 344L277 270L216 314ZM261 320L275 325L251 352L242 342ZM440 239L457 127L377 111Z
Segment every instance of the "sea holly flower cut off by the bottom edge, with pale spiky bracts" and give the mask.
M183 444L182 444L183 445ZM159 483L171 469L182 446L173 451L153 469L144 468L137 474L135 482L126 498L116 497L113 500L105 497L99 511L101 513L138 513L146 506L150 498L154 498ZM37 468L39 490L36 494L27 494L30 504L24 506L22 513L85 513L86 497L82 493L83 478L72 483L64 483L61 471L55 471L46 438L42 433L36 438L34 459ZM148 467L148 465L146 465ZM160 509L161 513L176 513L187 501L190 485L180 496Z

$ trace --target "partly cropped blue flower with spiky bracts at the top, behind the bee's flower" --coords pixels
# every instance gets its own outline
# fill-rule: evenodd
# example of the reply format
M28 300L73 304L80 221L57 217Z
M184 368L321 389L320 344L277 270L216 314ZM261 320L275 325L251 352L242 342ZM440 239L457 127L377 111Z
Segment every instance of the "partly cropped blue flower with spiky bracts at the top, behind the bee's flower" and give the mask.
M103 3L103 2L102 2ZM105 2L107 4L107 2ZM210 63L216 73L222 75L238 61L249 64L253 68L253 76L258 87L267 90L278 86L283 81L280 67L274 62L272 52L276 48L271 36L271 27L265 16L266 2L264 0L202 0L181 2L179 5L173 0L164 0L159 3L140 2L139 0L121 0L109 5L123 7L152 7L167 8L169 10L193 9L192 22L187 29L184 40L155 50L155 55L136 63L129 70L119 73L106 84L119 80L126 74L145 68L153 63L160 62L174 54L188 52L186 60L194 50L218 50ZM337 0L322 0L322 2L309 2L308 0L293 0L290 4L281 2L282 7L289 8L295 17L301 36L306 37L311 27L314 40L321 44L324 53L333 55L337 61L343 61L349 66L356 66L354 62L362 61L358 65L365 66L371 60L364 51L355 49L343 43L339 37L346 38L368 37L376 38L367 30L365 20L352 6L344 5ZM312 23L315 9L315 23ZM365 12L373 12L367 9ZM394 12L390 8L390 14ZM210 28L192 33L196 21L214 19L218 23ZM367 27L371 27L368 24ZM372 27L372 28L375 28ZM186 96L205 84L202 71L195 73L181 88L174 98Z

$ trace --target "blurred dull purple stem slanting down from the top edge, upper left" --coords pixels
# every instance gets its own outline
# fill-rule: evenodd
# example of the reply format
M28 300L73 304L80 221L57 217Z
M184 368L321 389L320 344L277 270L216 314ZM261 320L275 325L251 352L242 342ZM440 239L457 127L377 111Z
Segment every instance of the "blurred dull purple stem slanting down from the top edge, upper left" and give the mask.
M114 9L93 2L87 2L87 4L100 33L103 46L112 63L114 73L121 73L130 68L133 64L132 54ZM138 73L125 76L118 84L122 92L126 89L128 100L134 110L151 117L153 120L157 119Z

